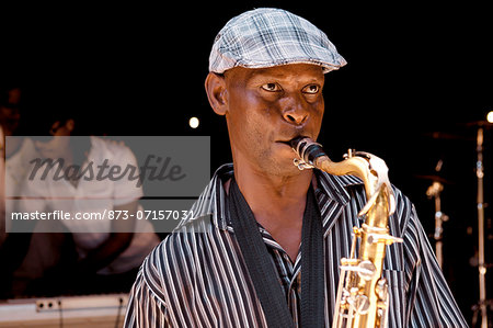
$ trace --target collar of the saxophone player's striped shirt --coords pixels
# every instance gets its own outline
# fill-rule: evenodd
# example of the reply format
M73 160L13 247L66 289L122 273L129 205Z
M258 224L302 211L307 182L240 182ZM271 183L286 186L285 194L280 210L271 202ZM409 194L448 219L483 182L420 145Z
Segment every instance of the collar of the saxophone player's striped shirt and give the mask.
M232 163L226 163L213 176L207 188L198 197L197 202L193 205L191 212L193 213L192 219L210 216L213 224L220 229L228 229L227 222L227 206L226 206L226 191L223 183L233 176ZM354 176L332 176L323 171L316 170L318 192L324 193L329 199L334 200L340 205L344 206L349 201L351 196L347 189L352 185L363 184L359 178ZM319 206L321 197L317 197ZM323 219L323 218L322 218ZM186 224L182 222L179 228Z

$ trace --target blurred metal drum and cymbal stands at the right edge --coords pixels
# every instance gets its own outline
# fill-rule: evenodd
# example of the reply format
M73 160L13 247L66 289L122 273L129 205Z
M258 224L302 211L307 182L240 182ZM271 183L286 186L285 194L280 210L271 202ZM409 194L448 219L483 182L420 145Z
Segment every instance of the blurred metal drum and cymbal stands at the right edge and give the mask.
M483 165L483 144L484 134L488 129L493 129L493 111L490 112L488 121L479 121L463 124L467 128L473 128L475 137L465 137L462 135L454 135L440 132L434 132L431 134L425 134L425 137L431 137L433 139L439 140L475 140L475 178L477 178L477 215L478 215L478 251L477 258L474 259L474 264L478 267L479 274L479 301L472 306L472 327L489 328L489 314L493 310L493 299L486 299L486 269L492 268L493 264L485 262L485 235L486 239L493 239L492 234L485 234L485 218L484 208L486 203L484 203L484 165ZM429 176L415 176L417 179L424 179L431 181L432 184L426 190L426 195L429 200L434 201L435 207L435 231L433 234L433 239L435 240L435 255L440 268L443 268L443 234L444 226L443 223L447 222L449 217L442 212L442 200L440 194L444 191L446 184L451 184L452 182L440 177L442 167L444 160L439 159L435 166L433 174ZM491 227L490 227L491 228ZM480 317L480 319L478 319ZM490 319L491 320L491 319ZM492 325L492 323L490 323Z

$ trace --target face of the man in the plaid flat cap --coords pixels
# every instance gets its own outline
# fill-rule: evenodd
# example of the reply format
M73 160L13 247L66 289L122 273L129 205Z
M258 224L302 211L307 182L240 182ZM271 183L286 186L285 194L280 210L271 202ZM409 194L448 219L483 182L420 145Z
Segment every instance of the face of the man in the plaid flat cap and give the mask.
M229 137L233 159L267 174L299 173L289 140L317 139L324 103L322 68L309 64L226 71Z

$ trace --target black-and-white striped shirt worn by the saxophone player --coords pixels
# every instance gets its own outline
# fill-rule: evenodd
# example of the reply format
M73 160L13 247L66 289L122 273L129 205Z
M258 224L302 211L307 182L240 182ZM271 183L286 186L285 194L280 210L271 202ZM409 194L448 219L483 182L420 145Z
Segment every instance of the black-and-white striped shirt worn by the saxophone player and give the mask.
M131 289L125 327L267 327L248 268L229 223L223 183L232 166L218 169L183 222L144 261ZM325 327L334 313L340 259L348 257L357 213L366 202L362 181L316 171L325 259ZM387 247L389 327L467 327L440 272L413 204L394 189L390 234L404 239ZM259 226L272 255L286 302L298 326L301 253L293 263Z

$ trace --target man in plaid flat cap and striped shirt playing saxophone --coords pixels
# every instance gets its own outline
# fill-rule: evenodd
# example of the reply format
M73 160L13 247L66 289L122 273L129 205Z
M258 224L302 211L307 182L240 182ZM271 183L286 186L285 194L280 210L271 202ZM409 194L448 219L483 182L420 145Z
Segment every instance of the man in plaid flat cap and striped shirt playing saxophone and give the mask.
M219 32L205 84L226 116L233 166L218 169L192 208L195 219L144 262L126 327L331 326L364 185L298 170L289 142L317 139L324 73L344 65L325 34L287 11L249 11ZM389 247L383 265L389 326L466 327L413 205L394 192L389 227L404 241Z

